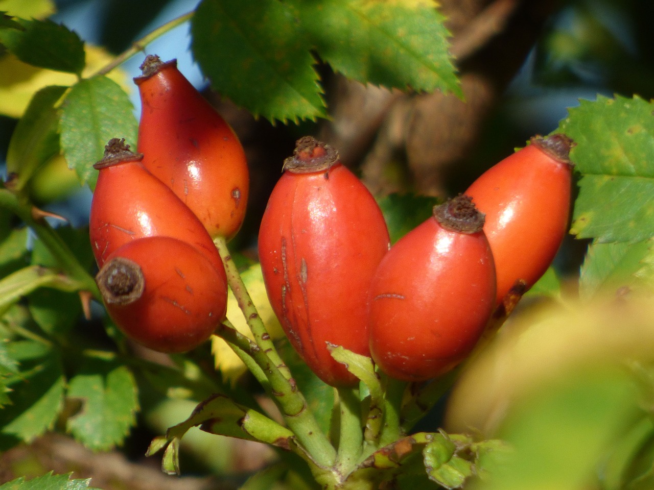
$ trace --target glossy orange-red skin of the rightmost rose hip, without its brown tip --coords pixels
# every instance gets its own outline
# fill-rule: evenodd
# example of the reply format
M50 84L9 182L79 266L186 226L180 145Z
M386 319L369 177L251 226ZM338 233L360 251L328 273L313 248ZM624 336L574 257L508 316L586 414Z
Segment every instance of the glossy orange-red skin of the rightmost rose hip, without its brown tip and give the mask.
M530 144L484 172L466 190L486 215L497 268L497 304L518 280L533 286L568 230L572 167Z

